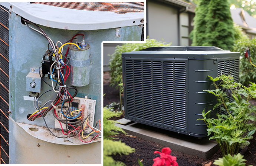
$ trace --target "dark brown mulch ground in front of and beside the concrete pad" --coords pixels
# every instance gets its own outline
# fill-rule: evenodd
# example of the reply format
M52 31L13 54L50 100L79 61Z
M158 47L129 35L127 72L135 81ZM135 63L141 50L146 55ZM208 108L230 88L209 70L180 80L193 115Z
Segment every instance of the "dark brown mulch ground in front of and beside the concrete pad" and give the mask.
M144 166L152 166L154 163L153 159L160 156L159 154L154 155L154 152L161 151L161 149L164 148L163 145L151 141L145 141L144 139L132 135L126 136L124 134L119 134L115 136L115 138L136 150L135 153L131 153L129 155L118 154L112 156L116 161L121 161L127 166L138 166L138 159L143 160L142 163ZM177 152L174 149L172 149L171 155L177 157L177 163L179 166L214 166L214 160L222 158L220 150L214 153L209 159L201 159L195 156L186 155ZM250 140L248 150L243 155L244 159L247 160L246 165L256 166L256 134L253 135L253 139Z

